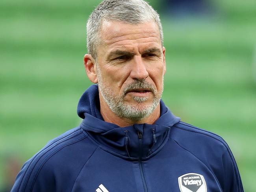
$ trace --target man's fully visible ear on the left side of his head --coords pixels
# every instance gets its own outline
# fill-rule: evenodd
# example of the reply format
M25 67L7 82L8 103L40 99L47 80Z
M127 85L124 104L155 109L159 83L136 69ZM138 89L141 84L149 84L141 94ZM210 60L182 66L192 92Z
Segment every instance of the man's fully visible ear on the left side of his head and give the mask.
M85 67L85 71L87 77L93 83L98 83L98 77L96 74L96 61L90 54L85 54L83 57L83 65Z

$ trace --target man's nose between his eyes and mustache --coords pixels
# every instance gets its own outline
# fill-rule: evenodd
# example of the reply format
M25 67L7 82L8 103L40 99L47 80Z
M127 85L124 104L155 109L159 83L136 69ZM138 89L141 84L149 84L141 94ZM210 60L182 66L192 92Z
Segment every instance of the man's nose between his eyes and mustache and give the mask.
M143 80L148 77L147 67L141 56L134 56L131 66L130 77L132 79Z

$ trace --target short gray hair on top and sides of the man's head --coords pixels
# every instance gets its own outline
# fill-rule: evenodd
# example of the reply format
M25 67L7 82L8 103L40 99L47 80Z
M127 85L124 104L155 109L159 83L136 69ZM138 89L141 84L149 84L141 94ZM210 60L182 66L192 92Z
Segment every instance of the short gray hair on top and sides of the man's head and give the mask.
M158 13L144 0L104 0L91 13L87 20L87 51L97 60L97 46L100 44L102 21L123 21L139 24L156 22L163 45L163 29Z

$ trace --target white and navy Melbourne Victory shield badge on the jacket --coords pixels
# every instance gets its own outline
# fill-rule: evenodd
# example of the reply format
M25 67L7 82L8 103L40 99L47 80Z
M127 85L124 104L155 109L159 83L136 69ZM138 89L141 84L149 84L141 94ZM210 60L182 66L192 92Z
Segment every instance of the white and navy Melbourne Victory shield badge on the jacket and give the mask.
M189 173L178 177L180 192L207 192L204 176Z

